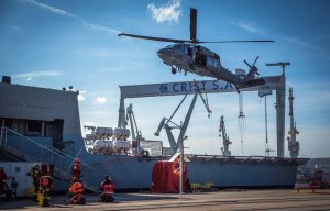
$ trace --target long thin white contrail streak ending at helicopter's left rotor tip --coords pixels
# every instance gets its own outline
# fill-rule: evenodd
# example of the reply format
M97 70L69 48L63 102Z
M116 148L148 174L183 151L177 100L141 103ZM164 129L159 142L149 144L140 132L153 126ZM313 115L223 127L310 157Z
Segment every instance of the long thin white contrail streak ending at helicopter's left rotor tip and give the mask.
M112 34L119 34L120 33L120 31L118 31L118 30L107 27L107 26L103 26L103 25L99 25L99 24L95 24L95 23L90 23L90 22L77 16L76 14L73 14L70 12L67 12L67 11L58 9L58 8L54 8L54 7L48 5L46 3L41 3L41 2L35 1L35 0L20 0L20 1L24 2L24 3L30 3L32 5L35 5L37 8L41 8L43 10L46 10L46 11L48 11L51 13L54 13L54 14L57 14L57 15L76 19L76 20L80 21L85 26L87 26L90 30L102 31L102 32L108 32L108 33L112 33Z

